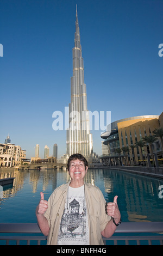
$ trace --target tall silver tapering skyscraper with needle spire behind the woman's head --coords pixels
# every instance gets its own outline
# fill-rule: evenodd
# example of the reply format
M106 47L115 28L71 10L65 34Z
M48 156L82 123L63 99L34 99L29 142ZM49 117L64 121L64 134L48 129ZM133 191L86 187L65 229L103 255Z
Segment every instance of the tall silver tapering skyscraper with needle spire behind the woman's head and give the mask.
M76 32L74 34L73 76L71 77L71 103L69 104L69 129L67 130L67 155L80 153L89 157L93 151L90 133L89 111L87 110L86 84L78 13L76 8Z

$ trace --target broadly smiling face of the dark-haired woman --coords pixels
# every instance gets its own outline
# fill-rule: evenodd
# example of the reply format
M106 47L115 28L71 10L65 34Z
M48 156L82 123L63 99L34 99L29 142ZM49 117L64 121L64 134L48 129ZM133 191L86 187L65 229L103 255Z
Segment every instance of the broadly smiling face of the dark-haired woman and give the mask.
M84 162L79 159L71 160L68 172L70 174L71 179L74 182L84 183L84 177L87 172L87 166L85 166Z

